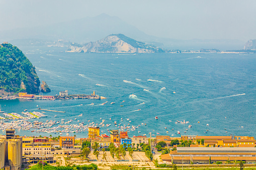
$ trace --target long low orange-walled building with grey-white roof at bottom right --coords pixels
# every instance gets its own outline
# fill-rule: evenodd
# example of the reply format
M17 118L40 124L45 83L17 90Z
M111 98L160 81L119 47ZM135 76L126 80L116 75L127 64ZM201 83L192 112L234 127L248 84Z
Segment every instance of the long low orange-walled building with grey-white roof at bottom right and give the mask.
M177 150L162 154L163 161L175 164L209 164L221 161L245 161L246 163L256 162L255 147L177 147Z

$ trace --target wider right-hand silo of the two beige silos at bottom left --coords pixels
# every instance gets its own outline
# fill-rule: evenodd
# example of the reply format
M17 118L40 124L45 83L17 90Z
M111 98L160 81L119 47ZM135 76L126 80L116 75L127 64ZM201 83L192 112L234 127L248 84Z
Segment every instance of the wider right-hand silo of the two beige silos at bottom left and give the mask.
M8 160L12 170L21 168L21 141L20 139L8 140Z

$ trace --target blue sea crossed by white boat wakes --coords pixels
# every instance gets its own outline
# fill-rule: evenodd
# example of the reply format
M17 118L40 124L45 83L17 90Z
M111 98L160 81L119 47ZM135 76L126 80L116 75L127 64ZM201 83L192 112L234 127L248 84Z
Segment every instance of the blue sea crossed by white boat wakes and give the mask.
M119 129L119 125L114 125L117 121L121 125L138 126L135 131L128 130L130 137L143 134L149 137L150 132L152 137L158 133L173 137L256 136L255 54L65 53L64 48L53 47L20 49L36 67L40 81L49 85L51 92L43 95L58 95L65 90L69 94L96 91L106 99L0 100L2 110L7 113L23 115L24 109L33 112L40 107L65 111L45 111L48 117L36 119L43 122L72 119L70 124L82 121L89 124L89 120L100 123L104 119L105 124L111 124L101 127L101 134L107 135L110 134L107 129ZM101 105L104 102L107 103ZM31 131L21 130L16 134L59 135ZM74 134L87 137L88 132L70 133Z

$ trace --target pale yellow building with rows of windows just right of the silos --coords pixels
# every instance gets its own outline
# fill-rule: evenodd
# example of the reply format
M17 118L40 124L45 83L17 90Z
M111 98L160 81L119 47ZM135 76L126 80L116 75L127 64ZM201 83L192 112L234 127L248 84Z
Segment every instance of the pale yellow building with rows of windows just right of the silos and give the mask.
M51 154L51 143L50 142L34 142L34 138L23 138L22 139L22 154Z

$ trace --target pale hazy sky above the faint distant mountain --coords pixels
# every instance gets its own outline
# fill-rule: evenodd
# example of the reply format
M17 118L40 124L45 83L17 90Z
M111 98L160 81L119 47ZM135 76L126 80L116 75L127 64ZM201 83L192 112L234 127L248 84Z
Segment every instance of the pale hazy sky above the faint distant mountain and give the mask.
M0 0L0 31L106 13L146 34L175 39L256 39L256 1Z

